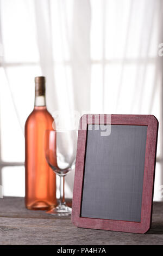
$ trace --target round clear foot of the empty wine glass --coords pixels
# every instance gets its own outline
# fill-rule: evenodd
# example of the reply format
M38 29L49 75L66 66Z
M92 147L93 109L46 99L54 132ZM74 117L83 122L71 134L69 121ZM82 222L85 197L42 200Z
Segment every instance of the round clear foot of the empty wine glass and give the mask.
M59 204L53 209L47 211L46 213L57 216L68 216L71 215L71 208L68 207L66 204Z

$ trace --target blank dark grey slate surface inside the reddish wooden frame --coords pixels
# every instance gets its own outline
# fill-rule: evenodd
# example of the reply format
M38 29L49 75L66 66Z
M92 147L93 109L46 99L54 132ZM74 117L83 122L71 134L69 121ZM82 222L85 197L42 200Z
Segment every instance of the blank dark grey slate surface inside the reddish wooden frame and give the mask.
M82 217L140 222L147 126L87 131Z

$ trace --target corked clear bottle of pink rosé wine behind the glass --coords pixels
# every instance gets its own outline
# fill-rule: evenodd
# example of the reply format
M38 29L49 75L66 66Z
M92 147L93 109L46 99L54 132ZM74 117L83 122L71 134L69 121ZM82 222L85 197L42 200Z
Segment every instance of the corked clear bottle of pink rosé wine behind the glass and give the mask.
M35 106L25 125L26 198L27 209L48 210L56 202L55 174L46 162L43 149L45 130L51 130L54 120L47 111L45 77L35 78Z

